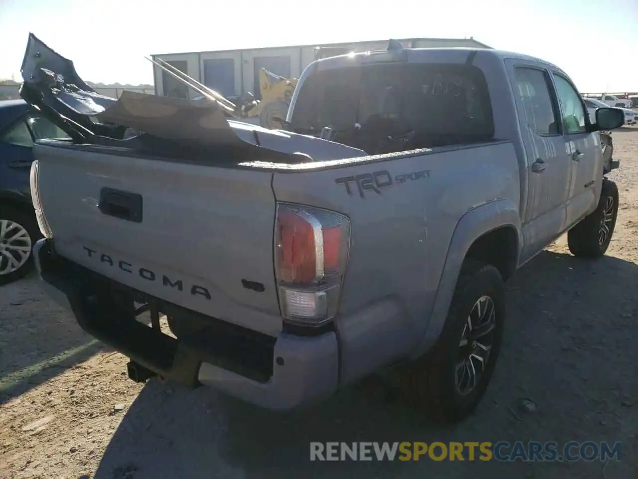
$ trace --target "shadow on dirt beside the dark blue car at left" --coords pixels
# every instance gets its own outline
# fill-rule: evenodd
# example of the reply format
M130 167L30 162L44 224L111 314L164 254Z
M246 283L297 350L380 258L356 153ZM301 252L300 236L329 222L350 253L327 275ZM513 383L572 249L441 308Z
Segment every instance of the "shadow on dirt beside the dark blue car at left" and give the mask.
M0 404L108 351L40 290L35 275L0 293Z

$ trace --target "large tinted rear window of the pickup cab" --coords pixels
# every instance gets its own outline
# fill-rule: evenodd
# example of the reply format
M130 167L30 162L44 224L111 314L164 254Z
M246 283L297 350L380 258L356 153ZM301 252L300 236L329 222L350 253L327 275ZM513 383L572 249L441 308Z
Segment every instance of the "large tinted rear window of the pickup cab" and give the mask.
M300 87L293 129L345 130L383 119L413 130L415 148L491 139L494 123L484 76L468 65L373 63L314 73Z

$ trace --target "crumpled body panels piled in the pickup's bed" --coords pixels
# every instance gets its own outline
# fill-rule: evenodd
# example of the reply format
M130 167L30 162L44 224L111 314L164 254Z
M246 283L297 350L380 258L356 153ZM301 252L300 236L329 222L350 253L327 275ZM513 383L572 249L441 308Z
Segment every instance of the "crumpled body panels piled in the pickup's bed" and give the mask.
M213 98L194 102L131 91L117 100L100 95L78 76L72 61L34 34L29 34L21 71L20 95L75 143L216 164L247 159L302 163L366 155L343 144L228 119L227 110ZM309 142L313 157L302 153Z

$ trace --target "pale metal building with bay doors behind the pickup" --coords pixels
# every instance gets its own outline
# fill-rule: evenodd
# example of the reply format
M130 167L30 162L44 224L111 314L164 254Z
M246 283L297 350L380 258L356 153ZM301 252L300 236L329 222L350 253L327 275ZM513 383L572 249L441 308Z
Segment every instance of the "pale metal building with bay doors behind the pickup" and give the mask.
M399 40L406 48L469 47L489 49L473 38L407 38ZM299 78L304 68L315 59L315 47L337 47L353 52L382 50L388 40L353 43L327 43L323 45L299 45L296 47L272 47L260 49L223 50L216 52L188 52L152 55L161 58L193 79L219 91L226 98L235 98L251 92L259 99L258 72L260 68L286 78ZM163 71L154 68L156 95L193 98L198 94Z

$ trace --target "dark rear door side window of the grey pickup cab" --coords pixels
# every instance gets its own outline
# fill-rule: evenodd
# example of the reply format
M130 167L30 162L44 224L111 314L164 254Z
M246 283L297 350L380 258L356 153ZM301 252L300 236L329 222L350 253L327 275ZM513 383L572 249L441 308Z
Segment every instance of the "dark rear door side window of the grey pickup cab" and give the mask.
M528 126L538 135L557 135L560 130L549 95L547 73L524 67L516 68L514 73Z

